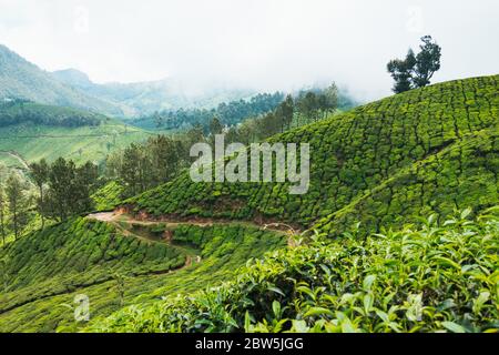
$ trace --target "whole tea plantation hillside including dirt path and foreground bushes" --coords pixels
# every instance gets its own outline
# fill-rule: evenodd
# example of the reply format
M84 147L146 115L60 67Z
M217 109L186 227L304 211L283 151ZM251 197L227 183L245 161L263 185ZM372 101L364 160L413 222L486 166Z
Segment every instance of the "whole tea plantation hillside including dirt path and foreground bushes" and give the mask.
M413 90L271 138L310 144L304 195L185 172L114 213L10 243L0 328L84 327L77 294L93 305L88 331L499 328L498 79Z

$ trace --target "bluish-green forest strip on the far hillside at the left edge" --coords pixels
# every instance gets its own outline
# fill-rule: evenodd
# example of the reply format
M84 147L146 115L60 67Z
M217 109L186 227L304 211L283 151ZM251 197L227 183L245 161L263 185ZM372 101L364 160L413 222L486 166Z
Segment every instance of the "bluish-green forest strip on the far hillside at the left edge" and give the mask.
M0 103L0 126L32 123L53 126L95 126L103 116L69 108L50 106L23 99L13 99Z

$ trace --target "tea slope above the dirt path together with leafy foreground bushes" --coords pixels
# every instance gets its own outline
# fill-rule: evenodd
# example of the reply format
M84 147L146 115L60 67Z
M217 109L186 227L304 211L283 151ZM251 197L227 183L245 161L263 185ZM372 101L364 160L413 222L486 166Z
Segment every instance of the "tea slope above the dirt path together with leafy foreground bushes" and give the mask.
M414 90L272 138L310 143L304 195L184 175L128 200L143 219L315 234L220 288L126 307L88 331L497 332L498 79Z

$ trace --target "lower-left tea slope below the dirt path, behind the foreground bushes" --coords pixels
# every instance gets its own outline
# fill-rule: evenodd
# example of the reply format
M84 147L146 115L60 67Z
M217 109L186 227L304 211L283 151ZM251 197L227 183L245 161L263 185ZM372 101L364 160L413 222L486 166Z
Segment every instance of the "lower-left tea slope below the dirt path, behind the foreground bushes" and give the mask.
M170 241L162 239L164 231ZM244 224L72 219L0 250L0 331L74 331L84 325L73 318L78 294L89 296L92 318L105 316L123 304L217 284L246 260L285 243L279 233ZM118 280L124 280L122 287Z

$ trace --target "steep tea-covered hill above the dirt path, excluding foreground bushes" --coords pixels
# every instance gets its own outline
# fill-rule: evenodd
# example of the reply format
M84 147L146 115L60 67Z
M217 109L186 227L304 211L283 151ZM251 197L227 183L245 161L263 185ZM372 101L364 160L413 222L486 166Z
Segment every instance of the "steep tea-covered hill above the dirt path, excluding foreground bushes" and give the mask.
M436 84L273 136L310 144L310 185L193 183L189 173L128 203L150 214L278 219L312 226L355 211L364 229L498 201L498 77ZM424 169L428 168L428 169ZM380 189L386 186L386 189ZM348 223L330 220L329 232Z

